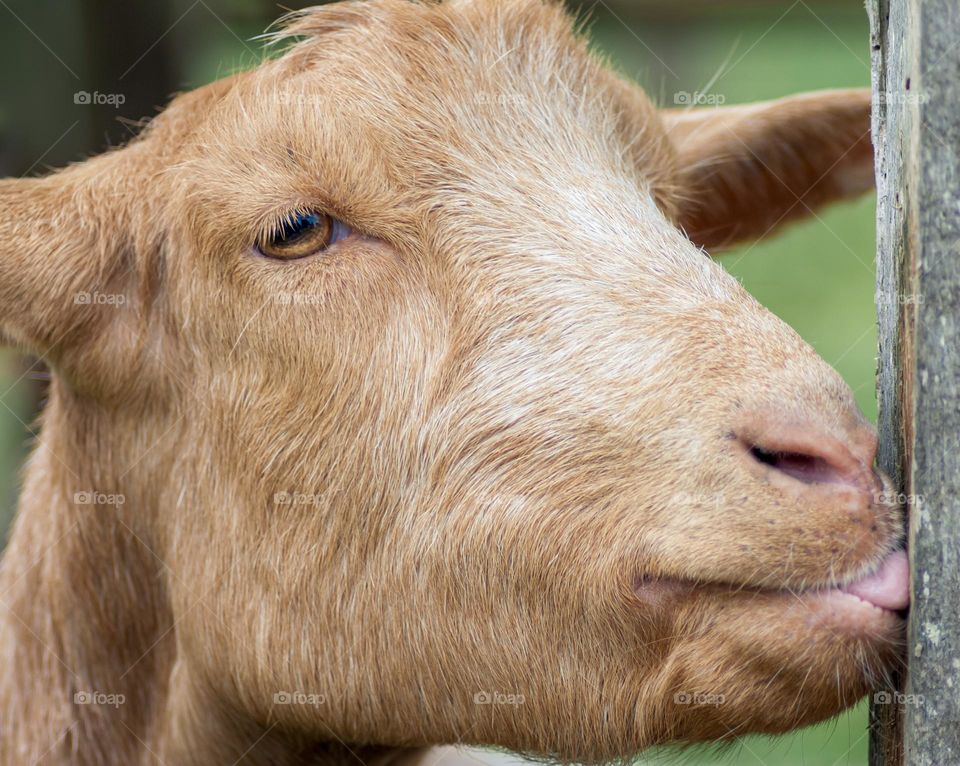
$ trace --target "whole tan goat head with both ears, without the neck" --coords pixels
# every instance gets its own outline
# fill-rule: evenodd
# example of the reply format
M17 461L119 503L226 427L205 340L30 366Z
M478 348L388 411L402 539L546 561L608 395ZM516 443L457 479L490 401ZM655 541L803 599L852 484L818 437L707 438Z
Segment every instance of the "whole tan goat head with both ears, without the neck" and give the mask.
M902 629L897 577L840 587L898 545L874 434L699 246L860 189L865 97L658 112L534 0L289 33L3 189L67 222L6 334L101 441L163 435L122 482L185 667L299 737L578 761L862 696Z

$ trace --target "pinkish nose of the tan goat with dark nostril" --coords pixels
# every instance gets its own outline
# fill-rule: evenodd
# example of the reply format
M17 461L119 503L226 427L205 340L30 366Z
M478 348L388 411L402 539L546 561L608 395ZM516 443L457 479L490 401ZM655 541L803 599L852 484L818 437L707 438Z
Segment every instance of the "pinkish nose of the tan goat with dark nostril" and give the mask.
M768 475L807 485L846 486L865 493L882 490L873 470L877 436L865 424L840 439L817 425L758 417L737 435L746 459Z

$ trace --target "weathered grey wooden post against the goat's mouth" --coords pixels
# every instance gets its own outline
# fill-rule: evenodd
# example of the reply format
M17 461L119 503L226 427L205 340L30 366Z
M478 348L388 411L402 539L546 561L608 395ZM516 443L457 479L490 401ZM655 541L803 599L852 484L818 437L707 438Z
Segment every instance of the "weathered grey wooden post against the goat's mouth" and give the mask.
M960 3L869 0L880 464L910 505L907 671L872 766L960 764ZM892 701L891 701L892 700Z

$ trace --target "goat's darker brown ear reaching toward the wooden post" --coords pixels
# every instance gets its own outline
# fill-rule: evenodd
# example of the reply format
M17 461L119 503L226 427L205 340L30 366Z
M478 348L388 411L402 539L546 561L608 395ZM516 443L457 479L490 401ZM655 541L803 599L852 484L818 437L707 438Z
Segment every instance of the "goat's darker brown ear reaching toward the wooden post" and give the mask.
M677 223L707 249L873 187L868 90L661 115L677 151Z

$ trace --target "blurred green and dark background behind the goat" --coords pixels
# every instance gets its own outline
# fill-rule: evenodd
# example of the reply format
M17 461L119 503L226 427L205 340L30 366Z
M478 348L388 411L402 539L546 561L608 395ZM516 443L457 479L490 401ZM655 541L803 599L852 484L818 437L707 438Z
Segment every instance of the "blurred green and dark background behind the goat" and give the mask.
M253 38L287 0L0 0L0 175L35 175L123 143L178 90L254 64ZM596 46L661 104L707 92L727 104L870 82L859 0L570 0ZM375 53L372 53L375 55ZM125 103L76 104L78 91ZM722 263L843 375L871 419L873 197L820 212ZM0 352L0 534L44 397L42 363ZM786 737L647 754L650 764L865 764L866 707Z

